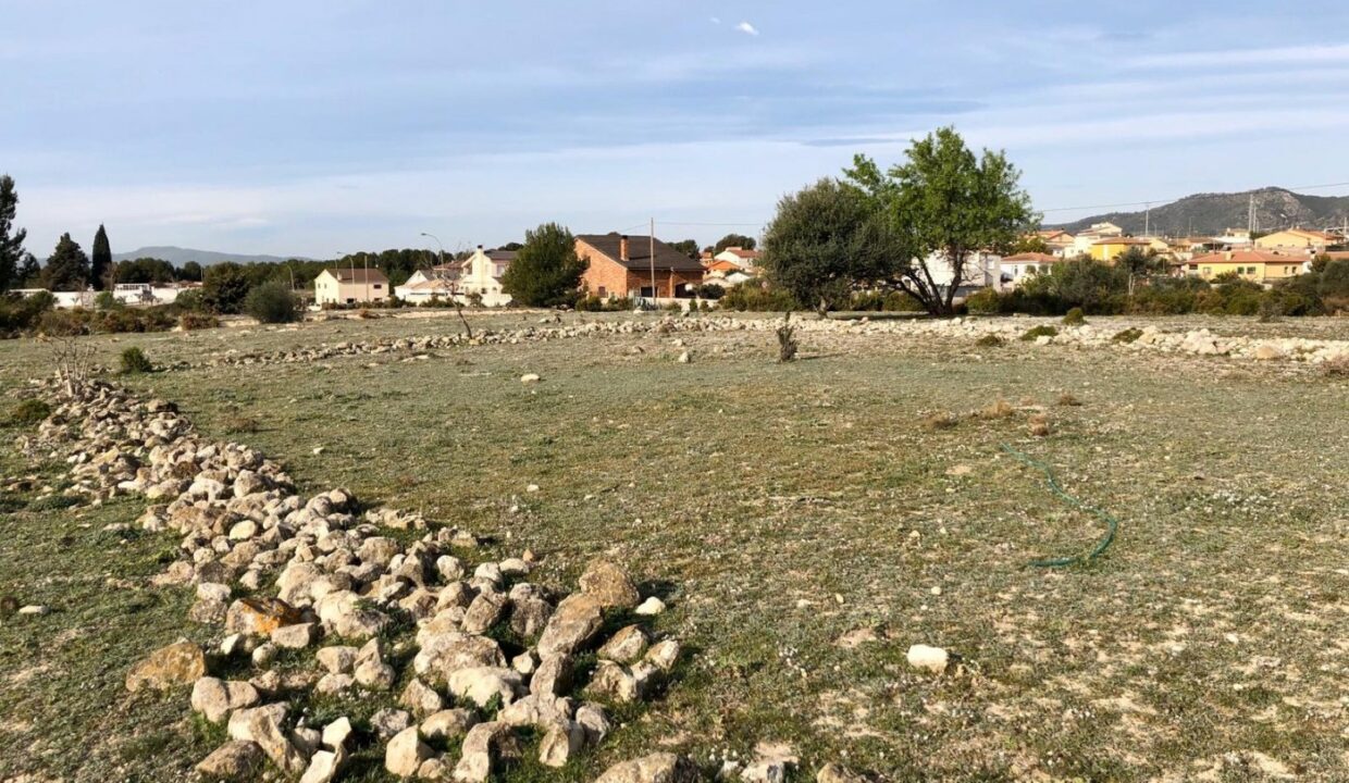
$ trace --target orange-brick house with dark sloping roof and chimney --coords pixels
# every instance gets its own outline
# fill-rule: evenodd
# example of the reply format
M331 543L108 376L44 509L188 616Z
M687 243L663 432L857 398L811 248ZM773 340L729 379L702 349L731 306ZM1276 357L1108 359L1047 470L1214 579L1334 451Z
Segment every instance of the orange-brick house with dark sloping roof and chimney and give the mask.
M576 256L587 263L581 290L602 299L691 298L703 282L703 264L697 259L649 236L580 234Z

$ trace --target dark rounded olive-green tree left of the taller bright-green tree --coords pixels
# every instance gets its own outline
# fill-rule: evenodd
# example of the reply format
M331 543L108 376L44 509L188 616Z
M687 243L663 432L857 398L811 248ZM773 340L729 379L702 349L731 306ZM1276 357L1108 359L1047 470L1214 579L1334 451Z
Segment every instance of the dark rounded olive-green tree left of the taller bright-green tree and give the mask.
M854 187L820 179L777 203L764 233L769 282L824 317L858 283L885 276L893 236Z

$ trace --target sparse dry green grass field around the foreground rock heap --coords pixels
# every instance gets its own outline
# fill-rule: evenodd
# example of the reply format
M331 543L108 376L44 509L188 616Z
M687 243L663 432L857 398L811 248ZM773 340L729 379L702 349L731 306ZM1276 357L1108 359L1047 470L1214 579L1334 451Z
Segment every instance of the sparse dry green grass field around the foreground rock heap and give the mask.
M522 321L537 314L479 317ZM1156 323L1349 338L1345 319ZM167 363L455 330L383 319L89 340L107 364L127 345ZM693 650L683 678L569 776L654 749L719 763L769 740L800 755L801 779L827 761L893 780L1349 778L1344 379L861 336L809 336L805 358L780 365L770 334L680 338L691 364L669 336L629 336L127 383L305 488L420 509L502 553L532 547L545 582L572 584L603 553L665 590L662 624ZM0 391L12 399L47 354L0 344ZM967 415L1000 399L1010 415ZM1028 434L1031 406L1048 437ZM943 411L954 426L924 423ZM16 451L20 434L4 430L7 482L59 481L62 465ZM1001 443L1120 518L1106 557L1027 565L1102 531ZM212 637L186 620L189 590L148 585L177 542L103 531L142 501L42 509L34 495L4 496L0 596L53 610L0 625L0 779L188 778L219 729L193 720L186 693L121 685L151 648ZM958 654L959 671L909 668L916 643Z

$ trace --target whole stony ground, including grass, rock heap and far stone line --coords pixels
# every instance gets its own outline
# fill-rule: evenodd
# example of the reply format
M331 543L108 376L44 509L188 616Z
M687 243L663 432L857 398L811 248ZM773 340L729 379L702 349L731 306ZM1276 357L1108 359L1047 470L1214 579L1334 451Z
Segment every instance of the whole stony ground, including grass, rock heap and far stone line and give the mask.
M513 318L0 345L0 778L1349 761L1342 322Z

